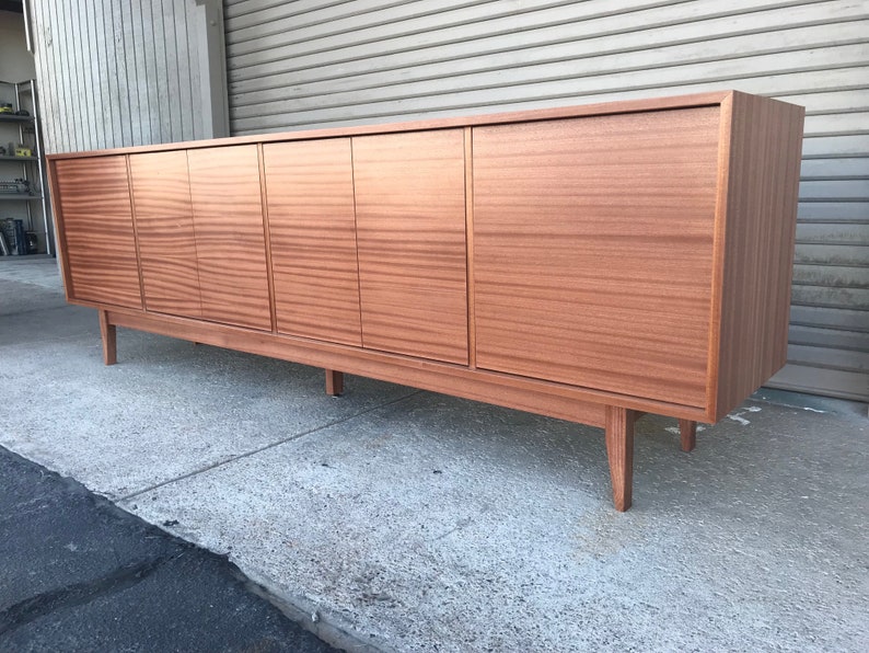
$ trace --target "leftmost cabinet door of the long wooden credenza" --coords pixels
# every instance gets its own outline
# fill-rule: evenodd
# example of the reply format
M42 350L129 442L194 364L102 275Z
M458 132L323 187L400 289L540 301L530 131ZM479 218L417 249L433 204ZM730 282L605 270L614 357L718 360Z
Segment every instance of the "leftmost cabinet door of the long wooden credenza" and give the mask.
M70 298L141 308L126 157L54 165Z

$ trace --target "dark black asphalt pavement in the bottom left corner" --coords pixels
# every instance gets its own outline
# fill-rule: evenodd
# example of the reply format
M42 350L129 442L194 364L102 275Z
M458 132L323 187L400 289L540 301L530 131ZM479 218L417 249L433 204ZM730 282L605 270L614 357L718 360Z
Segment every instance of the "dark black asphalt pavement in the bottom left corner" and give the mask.
M227 558L0 447L0 652L337 651L262 592Z

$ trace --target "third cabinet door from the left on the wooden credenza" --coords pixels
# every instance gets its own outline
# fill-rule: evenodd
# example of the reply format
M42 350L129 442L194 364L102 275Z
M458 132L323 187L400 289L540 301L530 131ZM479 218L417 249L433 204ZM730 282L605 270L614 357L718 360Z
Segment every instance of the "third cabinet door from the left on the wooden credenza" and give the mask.
M270 330L257 148L192 149L187 162L202 318Z

